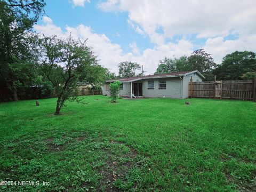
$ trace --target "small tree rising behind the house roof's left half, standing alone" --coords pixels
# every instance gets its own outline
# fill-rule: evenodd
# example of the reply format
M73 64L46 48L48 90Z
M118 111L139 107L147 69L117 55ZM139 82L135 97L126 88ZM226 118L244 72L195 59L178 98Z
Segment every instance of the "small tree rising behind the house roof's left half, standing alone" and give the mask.
M133 77L135 76L135 71L140 68L140 65L136 62L123 61L118 65L119 77Z

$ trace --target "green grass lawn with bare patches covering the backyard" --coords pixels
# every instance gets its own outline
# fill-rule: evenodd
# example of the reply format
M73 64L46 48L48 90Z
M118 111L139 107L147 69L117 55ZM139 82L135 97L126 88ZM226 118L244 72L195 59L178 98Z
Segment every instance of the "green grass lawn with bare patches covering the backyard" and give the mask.
M0 191L256 190L256 103L82 98L0 104Z

